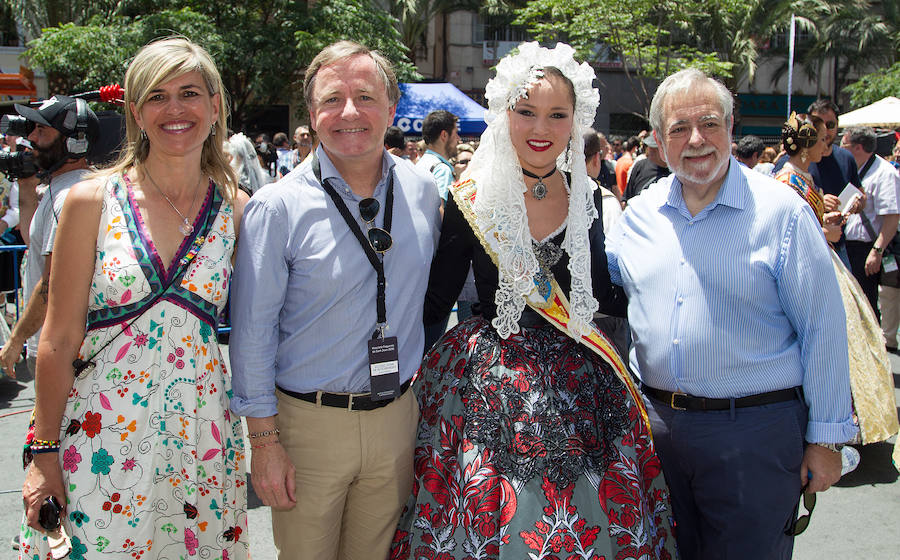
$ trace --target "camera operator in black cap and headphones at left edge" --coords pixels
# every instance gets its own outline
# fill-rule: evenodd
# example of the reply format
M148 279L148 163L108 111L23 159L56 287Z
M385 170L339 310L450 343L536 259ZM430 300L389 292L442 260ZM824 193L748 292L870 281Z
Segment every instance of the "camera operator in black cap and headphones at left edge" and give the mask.
M25 312L0 350L0 366L14 378L16 361L28 339L26 363L29 375L34 378L38 337L47 313L51 253L59 215L69 187L83 180L89 172L86 156L100 136L100 122L86 101L65 95L55 95L36 108L15 107L21 117L4 116L2 127L7 133L28 133L40 170L38 176L47 183L47 188L40 195L28 230L28 260L23 283ZM37 191L33 187L24 187L22 181L19 182L19 193L20 201L29 196L38 197Z

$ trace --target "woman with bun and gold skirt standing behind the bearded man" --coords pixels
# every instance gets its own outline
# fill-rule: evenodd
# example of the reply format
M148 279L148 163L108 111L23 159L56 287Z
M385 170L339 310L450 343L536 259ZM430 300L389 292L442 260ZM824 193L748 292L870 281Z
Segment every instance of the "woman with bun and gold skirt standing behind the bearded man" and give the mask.
M813 115L799 117L791 114L781 130L782 143L789 159L775 179L790 186L809 202L822 224L825 238L834 243L841 237L843 216L837 211L825 212L822 190L809 173L809 165L822 159L827 147L825 123ZM823 305L844 306L850 389L854 420L859 425L859 441L854 443L885 441L897 433L900 424L897 421L891 364L881 327L859 283L834 251L831 251L831 261L841 288L842 301L823 302ZM844 451L847 455L847 450ZM852 461L858 461L858 454L849 456Z

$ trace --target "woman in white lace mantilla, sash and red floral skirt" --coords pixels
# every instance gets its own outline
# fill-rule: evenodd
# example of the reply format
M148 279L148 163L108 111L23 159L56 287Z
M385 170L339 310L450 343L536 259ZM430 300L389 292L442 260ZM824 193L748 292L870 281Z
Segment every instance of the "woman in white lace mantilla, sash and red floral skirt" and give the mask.
M599 94L573 54L523 44L487 85L488 129L446 204L425 322L449 312L470 262L481 315L416 379L416 480L392 558L675 555L640 397L591 324L598 299L618 314L625 302L585 171Z

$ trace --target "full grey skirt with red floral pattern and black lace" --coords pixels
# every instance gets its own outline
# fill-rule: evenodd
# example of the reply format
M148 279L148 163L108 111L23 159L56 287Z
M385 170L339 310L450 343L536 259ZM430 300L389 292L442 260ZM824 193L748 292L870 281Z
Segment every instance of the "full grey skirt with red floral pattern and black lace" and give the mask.
M674 558L668 488L640 414L550 325L503 340L474 317L425 356L413 495L391 558Z

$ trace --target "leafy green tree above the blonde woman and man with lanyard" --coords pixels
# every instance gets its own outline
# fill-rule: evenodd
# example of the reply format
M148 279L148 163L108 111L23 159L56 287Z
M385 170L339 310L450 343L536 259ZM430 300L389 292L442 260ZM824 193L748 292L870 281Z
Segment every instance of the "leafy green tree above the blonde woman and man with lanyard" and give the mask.
M420 78L406 60L395 23L371 0L320 0L311 7L303 0L135 1L80 25L45 28L29 43L26 56L58 77L55 91L84 91L121 83L128 61L152 39L184 35L216 61L232 103L232 126L240 129L253 118L253 107L302 101L306 66L335 40L377 48L397 66L401 79Z

